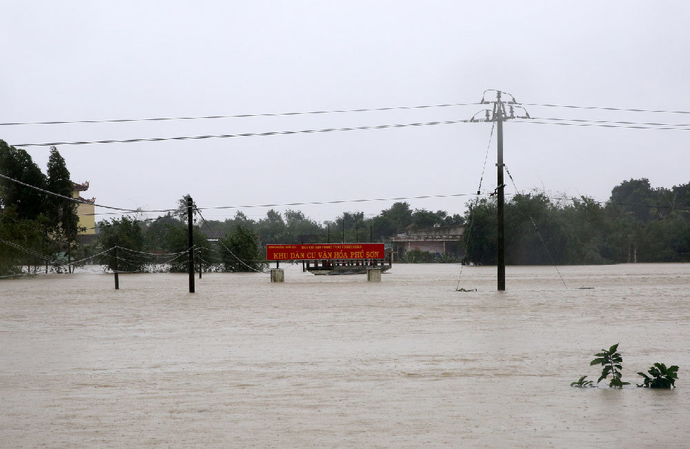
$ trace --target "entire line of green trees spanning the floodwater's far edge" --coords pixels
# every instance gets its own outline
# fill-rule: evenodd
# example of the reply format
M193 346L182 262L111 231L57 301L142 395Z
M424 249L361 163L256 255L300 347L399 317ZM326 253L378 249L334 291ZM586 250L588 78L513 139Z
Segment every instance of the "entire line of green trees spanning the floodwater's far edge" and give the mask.
M0 140L0 173L72 197L70 172L55 147L44 174L26 151ZM0 239L7 242L0 241L0 275L18 273L21 266L36 270L46 261L60 266L67 255L81 259L115 246L130 250L119 255L120 270L150 270L162 263L164 270L184 271L186 196L176 206L155 219L130 214L101 220L96 241L84 245L77 241L77 203L0 178ZM195 214L195 251L204 270L261 270L269 243L386 241L408 230L463 225L462 260L495 264L496 212L496 199L489 197L466 203L464 214L413 209L399 201L373 216L343 212L324 223L299 210L270 209L257 220L241 211L222 221L203 221ZM516 194L506 200L505 217L509 264L690 261L690 183L653 188L649 179L630 179L615 186L605 202L538 191ZM112 268L114 259L108 252L99 261ZM438 259L413 250L402 261Z

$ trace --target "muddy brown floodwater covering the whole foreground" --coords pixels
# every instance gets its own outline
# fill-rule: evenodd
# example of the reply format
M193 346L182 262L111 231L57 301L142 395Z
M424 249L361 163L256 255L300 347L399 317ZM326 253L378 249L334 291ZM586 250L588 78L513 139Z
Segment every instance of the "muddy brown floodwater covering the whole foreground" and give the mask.
M459 272L2 280L0 446L690 445L690 264ZM630 386L569 386L619 342Z

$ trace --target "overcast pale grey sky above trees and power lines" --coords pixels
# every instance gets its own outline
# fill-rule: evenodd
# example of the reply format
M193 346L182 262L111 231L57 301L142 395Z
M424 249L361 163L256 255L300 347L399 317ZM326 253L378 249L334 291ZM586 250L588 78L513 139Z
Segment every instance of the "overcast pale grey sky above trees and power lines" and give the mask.
M690 110L687 1L0 2L0 122L472 103ZM0 126L10 144L469 119L483 106L194 121ZM688 114L527 107L532 117ZM506 123L520 190L606 200L624 179L690 181L687 130ZM476 192L490 123L59 146L98 203L172 208ZM27 148L45 170L49 149ZM482 190L495 188L495 139ZM514 192L512 186L506 192ZM470 197L410 201L464 211ZM313 219L391 201L299 206ZM284 210L285 208L276 208ZM108 212L97 210L97 212ZM266 208L245 209L254 218ZM234 210L206 212L232 217Z

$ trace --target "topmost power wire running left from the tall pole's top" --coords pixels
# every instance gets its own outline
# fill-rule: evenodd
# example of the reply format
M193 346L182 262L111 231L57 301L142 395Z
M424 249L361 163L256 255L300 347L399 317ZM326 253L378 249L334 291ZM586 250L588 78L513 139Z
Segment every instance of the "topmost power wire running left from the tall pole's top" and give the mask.
M110 120L73 120L73 121L25 121L14 123L0 123L0 126L14 125L65 125L71 123L125 123L130 121L166 121L166 120L205 120L205 119L240 119L245 117L280 117L287 115L310 115L310 114L336 114L341 112L373 112L385 110L406 110L406 109L430 109L430 108L449 108L451 106L471 106L480 103L447 103L431 104L424 106L393 106L389 108L368 108L368 109L337 109L337 110L317 110L306 112L273 112L264 114L236 114L236 115L206 115L199 117L157 117L153 119L110 119Z

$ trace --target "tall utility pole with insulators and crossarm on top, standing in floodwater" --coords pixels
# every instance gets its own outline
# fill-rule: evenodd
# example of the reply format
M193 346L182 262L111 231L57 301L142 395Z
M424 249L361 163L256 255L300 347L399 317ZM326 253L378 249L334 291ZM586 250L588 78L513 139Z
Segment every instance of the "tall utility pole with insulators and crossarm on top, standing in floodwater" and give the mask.
M491 90L491 89L490 89ZM486 90L484 94L486 94ZM514 108L522 108L519 103L515 101L515 97L508 94L511 97L511 101L507 103L502 101L500 90L496 91L496 101L485 101L482 97L482 104L493 103L493 111L491 111L491 117L489 117L489 110L485 110L486 119L483 121L495 121L496 122L496 140L497 140L497 157L496 157L496 168L497 168L497 178L496 178L496 190L494 192L497 195L497 239L496 239L496 261L498 266L497 272L497 284L498 290L506 290L506 238L505 238L505 195L504 188L506 186L503 179L503 122L509 119L529 119L529 114L525 111L525 117L515 117ZM509 111L506 112L506 104L509 106ZM522 108L524 109L524 108ZM471 121L475 121L474 117ZM477 192L480 194L480 192Z

